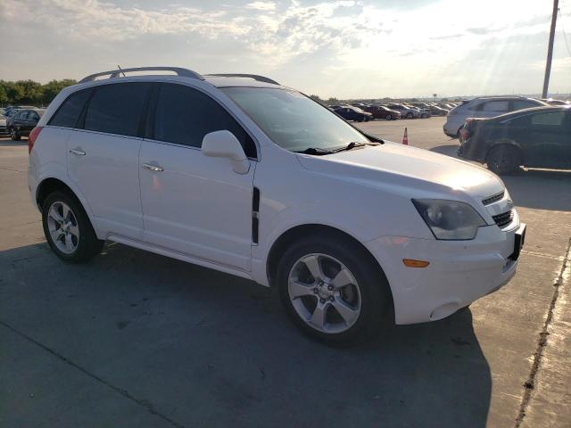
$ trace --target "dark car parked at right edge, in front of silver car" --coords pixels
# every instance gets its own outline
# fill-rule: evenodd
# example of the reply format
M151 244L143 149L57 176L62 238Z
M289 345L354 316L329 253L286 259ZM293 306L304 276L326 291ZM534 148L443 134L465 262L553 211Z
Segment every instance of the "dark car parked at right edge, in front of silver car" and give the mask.
M519 166L571 168L571 106L536 107L492 119L467 119L459 156L496 174Z

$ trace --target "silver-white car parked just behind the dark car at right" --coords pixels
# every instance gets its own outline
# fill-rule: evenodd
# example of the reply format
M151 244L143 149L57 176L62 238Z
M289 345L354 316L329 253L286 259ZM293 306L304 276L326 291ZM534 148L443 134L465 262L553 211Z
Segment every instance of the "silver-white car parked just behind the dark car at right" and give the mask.
M534 98L523 96L480 96L461 103L446 116L444 134L458 138L460 129L468 118L495 118L509 111L549 105Z

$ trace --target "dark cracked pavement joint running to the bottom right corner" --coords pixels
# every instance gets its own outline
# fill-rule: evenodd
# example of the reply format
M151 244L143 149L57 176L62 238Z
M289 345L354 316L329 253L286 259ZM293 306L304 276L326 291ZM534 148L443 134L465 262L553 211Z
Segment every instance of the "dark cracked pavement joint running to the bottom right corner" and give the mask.
M563 275L567 269L567 265L570 265L571 262L571 238L567 243L567 251L565 254L565 258L563 259L563 264L561 265L561 269L559 270L559 276L555 280L555 284L553 284L553 296L551 297L550 301L550 308L547 312L547 317L545 318L545 323L543 324L542 332L539 333L539 340L537 341L537 349L534 352L534 362L532 364L531 371L529 373L529 377L527 381L524 383L525 391L524 396L521 400L521 405L519 407L519 415L516 419L516 424L514 425L515 428L519 428L521 424L524 422L525 418L525 410L529 405L532 397L532 391L534 390L535 386L535 378L537 377L537 373L539 372L540 365L542 363L543 357L543 350L547 346L547 337L549 335L548 329L551 324L551 320L553 318L553 310L555 309L555 305L559 298L559 288L563 285ZM571 265L570 265L571 266Z

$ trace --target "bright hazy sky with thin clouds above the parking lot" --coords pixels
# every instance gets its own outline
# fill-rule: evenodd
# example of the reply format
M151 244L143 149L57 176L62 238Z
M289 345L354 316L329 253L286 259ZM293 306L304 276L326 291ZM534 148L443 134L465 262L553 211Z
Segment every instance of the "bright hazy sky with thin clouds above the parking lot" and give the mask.
M559 8L550 93L571 93L571 0ZM2 0L0 79L172 65L322 98L538 94L551 11L551 0Z

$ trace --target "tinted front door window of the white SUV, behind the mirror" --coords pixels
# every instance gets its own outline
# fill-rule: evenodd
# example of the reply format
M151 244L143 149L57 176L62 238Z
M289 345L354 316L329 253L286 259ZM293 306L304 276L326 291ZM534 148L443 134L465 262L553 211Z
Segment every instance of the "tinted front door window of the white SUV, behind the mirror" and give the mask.
M201 147L206 134L223 129L228 129L236 136L246 156L256 157L252 138L210 96L188 86L160 86L154 118L154 139Z

